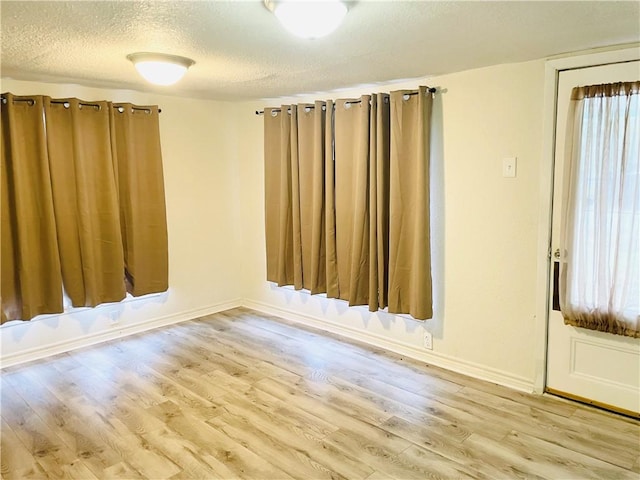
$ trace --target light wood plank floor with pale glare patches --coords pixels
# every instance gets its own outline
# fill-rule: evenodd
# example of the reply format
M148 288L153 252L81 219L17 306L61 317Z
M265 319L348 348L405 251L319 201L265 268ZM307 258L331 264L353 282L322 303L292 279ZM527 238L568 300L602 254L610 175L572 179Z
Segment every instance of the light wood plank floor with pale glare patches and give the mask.
M27 478L640 478L640 423L235 309L2 371Z

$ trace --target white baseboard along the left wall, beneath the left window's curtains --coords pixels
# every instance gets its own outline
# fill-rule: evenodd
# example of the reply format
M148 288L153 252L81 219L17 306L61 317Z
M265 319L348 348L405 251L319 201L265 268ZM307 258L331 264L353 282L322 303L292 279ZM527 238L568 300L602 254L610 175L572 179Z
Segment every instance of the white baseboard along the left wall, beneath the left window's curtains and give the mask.
M193 320L205 315L211 315L213 313L222 312L224 310L229 310L231 308L240 306L242 306L242 301L240 299L221 302L203 308L174 313L171 315L166 315L164 317L153 318L132 325L126 325L122 328L96 332L83 337L76 337L71 340L64 340L62 342L53 343L44 347L36 347L15 354L2 355L2 357L0 358L0 368L19 365L21 363L31 362L33 360L40 360L52 355L58 355L60 353L69 352L71 350L96 345L98 343L107 342L109 340L115 340L117 338L145 332L147 330L152 330L158 327L186 322L188 320Z

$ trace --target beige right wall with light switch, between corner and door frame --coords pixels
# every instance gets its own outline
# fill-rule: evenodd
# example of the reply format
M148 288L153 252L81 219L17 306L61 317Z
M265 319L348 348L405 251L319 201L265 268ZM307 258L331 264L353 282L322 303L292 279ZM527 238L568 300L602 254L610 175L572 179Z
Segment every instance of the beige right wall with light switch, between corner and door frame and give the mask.
M418 84L439 89L432 152L434 319L423 324L370 314L264 281L262 120L252 113L264 105L254 104L245 105L239 118L246 303L531 390L544 61L282 103ZM502 159L512 156L518 157L517 177L504 178ZM422 346L424 328L433 333L432 352Z

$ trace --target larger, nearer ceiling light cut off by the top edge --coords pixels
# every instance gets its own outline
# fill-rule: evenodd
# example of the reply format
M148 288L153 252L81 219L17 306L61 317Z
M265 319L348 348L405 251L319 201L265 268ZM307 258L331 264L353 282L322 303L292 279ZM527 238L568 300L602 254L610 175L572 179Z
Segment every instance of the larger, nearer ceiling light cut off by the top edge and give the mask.
M347 14L340 0L264 0L280 23L302 38L320 38L333 32Z

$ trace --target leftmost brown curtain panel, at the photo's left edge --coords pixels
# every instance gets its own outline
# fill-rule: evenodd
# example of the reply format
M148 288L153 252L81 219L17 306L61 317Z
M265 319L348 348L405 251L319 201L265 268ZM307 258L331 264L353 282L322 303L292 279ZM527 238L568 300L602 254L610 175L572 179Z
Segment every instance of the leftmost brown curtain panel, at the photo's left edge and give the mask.
M61 313L62 276L42 96L2 102L2 323Z

